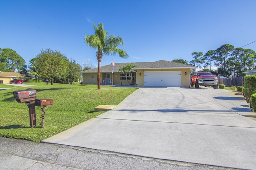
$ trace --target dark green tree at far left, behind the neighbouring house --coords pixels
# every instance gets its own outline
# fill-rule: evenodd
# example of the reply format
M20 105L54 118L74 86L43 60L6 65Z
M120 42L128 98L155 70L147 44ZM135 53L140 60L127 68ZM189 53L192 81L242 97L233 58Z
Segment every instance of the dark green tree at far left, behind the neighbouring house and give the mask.
M4 71L21 71L26 69L25 60L12 49L1 49L0 53L1 68L4 65Z

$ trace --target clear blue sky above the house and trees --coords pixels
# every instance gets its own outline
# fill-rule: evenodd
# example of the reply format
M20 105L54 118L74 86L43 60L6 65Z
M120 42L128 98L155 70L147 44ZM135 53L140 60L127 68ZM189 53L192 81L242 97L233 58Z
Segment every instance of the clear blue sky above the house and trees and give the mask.
M84 43L93 23L124 40L128 59L115 63L192 60L191 53L256 40L256 0L0 0L0 48L16 51L29 65L41 49L60 51L76 63L97 65ZM245 46L256 50L256 42Z

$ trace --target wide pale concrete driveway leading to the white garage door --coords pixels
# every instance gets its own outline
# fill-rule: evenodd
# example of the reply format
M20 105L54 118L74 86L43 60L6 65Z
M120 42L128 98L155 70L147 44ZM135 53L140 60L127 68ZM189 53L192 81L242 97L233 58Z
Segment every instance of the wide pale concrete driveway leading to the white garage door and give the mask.
M255 116L239 92L140 88L111 111L42 142L256 169Z

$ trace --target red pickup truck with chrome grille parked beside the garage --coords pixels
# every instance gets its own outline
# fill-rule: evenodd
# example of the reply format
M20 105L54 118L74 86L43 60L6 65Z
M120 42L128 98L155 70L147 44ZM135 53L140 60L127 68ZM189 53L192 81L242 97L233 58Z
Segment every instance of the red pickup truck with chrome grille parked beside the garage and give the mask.
M218 89L218 77L214 76L211 72L196 72L194 76L191 76L191 87L199 88L199 86L212 86L214 89Z

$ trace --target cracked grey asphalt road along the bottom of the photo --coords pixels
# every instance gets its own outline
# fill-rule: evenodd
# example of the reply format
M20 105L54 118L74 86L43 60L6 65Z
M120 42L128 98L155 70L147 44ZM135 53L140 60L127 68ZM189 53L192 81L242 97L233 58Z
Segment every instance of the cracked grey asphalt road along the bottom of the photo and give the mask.
M231 170L0 137L1 170Z

